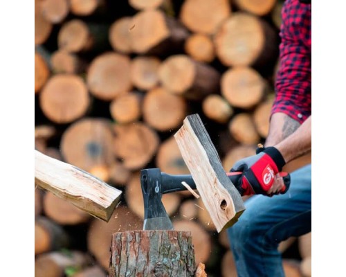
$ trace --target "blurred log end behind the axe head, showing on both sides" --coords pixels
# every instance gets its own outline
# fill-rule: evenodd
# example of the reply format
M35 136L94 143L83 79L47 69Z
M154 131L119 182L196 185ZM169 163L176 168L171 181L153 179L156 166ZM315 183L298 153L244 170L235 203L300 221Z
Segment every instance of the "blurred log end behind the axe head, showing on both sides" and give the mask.
M125 199L129 209L144 220L144 202L139 172L134 172L125 186ZM162 196L163 206L169 216L176 211L180 202L178 193L167 193Z

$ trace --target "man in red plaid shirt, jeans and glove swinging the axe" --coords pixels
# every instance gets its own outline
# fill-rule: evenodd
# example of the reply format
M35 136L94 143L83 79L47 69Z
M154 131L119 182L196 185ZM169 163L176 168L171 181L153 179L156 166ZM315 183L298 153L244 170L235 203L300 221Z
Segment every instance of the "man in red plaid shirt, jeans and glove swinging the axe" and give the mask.
M239 277L284 276L277 246L311 231L311 164L291 172L282 194L279 172L311 150L311 1L286 0L280 28L280 68L264 148L237 161L245 195L255 194L228 229ZM273 195L273 197L270 197Z

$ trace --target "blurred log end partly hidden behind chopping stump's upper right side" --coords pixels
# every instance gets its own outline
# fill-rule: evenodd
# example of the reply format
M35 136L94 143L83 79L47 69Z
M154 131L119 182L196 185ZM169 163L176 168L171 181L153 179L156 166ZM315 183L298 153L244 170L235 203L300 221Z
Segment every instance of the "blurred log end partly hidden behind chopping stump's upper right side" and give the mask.
M192 220L174 220L174 230L190 231L196 263L207 262L212 251L212 242L209 233L203 227Z

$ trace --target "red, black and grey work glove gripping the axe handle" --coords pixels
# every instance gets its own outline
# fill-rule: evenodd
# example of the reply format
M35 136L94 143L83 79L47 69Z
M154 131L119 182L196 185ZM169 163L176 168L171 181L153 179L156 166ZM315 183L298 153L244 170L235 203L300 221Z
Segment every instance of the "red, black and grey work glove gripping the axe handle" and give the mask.
M236 184L241 195L262 194L272 196L274 194L286 193L290 184L290 176L286 172L281 172L286 164L282 154L273 146L257 148L256 154L239 160L235 163L230 172L243 172ZM275 193L268 193L277 174L283 177L284 186Z

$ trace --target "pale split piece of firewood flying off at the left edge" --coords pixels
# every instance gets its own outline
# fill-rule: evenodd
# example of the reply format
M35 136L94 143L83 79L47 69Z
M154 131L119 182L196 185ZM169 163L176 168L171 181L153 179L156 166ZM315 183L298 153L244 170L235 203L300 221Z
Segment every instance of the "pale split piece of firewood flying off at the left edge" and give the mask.
M122 193L88 172L37 150L35 184L106 222L109 221Z

